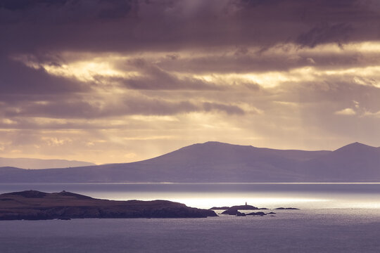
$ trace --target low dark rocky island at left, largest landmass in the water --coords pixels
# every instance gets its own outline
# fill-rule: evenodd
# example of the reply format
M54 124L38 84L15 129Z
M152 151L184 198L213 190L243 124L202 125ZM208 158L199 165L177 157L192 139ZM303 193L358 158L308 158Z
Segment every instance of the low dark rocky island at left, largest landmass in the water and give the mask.
M0 195L0 220L76 218L205 218L213 210L187 207L167 200L100 200L62 191L25 190Z

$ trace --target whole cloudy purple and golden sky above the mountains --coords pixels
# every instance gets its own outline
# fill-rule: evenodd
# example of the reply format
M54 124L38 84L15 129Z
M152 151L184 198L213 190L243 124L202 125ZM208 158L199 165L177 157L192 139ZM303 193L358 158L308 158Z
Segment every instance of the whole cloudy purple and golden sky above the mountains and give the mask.
M376 0L0 0L0 157L380 146Z

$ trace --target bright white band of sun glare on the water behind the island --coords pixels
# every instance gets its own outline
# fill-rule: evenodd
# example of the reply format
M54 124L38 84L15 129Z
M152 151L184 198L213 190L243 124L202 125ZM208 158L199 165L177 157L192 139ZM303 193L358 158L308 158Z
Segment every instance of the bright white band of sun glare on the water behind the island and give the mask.
M322 193L189 193L189 192L146 192L146 193L92 193L92 196L112 200L170 200L189 207L210 208L232 205L277 208L297 207L302 209L330 208L380 208L376 198L364 195Z

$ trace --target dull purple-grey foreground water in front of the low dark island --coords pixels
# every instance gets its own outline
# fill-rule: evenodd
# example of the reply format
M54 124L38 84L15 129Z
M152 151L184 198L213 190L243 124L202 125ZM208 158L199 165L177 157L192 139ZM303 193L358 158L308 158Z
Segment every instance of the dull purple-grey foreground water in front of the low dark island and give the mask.
M207 219L1 221L0 252L380 252L373 212Z

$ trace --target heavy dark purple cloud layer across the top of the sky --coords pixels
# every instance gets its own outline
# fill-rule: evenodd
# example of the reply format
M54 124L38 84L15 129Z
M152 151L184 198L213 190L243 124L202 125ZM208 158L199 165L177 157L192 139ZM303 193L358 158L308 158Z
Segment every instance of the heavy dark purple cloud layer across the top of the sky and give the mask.
M376 1L4 1L12 51L154 51L379 39Z

